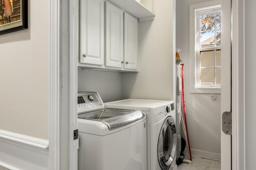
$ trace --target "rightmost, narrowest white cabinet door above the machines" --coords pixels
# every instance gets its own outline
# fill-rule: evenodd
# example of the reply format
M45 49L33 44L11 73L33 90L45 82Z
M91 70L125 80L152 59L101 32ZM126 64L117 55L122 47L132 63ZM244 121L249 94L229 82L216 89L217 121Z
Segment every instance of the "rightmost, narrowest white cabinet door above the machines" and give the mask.
M138 69L138 19L124 13L124 68Z

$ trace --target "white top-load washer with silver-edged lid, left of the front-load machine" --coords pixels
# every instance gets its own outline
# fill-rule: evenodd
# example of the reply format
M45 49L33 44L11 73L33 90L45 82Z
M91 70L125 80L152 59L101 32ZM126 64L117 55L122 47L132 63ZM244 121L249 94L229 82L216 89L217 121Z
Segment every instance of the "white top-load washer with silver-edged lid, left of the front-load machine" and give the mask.
M146 115L78 92L78 170L146 170Z

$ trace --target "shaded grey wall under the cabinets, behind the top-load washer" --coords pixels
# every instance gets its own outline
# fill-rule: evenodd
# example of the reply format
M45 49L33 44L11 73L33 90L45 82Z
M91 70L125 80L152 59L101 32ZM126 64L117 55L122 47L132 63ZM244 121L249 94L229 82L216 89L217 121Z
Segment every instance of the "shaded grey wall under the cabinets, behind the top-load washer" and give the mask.
M78 68L78 91L98 92L103 102L121 100L121 73Z

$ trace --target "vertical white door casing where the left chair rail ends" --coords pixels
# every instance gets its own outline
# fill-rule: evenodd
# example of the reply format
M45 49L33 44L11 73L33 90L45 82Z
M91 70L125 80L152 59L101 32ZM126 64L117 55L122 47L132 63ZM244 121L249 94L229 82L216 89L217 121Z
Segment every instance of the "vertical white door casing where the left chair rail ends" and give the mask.
M50 0L50 116L49 168L57 170L60 157L60 0Z

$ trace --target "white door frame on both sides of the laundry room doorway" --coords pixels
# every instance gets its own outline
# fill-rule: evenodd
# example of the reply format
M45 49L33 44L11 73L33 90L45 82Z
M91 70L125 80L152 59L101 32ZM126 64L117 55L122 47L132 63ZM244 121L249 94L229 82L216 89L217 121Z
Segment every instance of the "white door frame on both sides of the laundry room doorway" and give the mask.
M64 2L64 1L62 1ZM78 17L78 1L76 0L65 0L69 2L69 24L68 32L69 37L68 45L70 46L69 55L77 56L77 42L74 41L74 37L77 36L78 23L75 20ZM70 104L69 114L62 114L62 107L65 106L61 98L65 97L61 91L61 80L63 80L63 72L65 69L61 69L63 63L61 62L62 54L62 43L63 37L62 32L62 21L60 14L64 11L60 10L60 0L50 0L50 115L49 115L49 169L57 170L68 163L70 168L77 169L75 165L77 161L77 155L74 154L74 148L78 147L78 141L74 142L71 139L63 141L61 137L61 131L64 127L62 123L64 120L63 116L69 120L68 127L70 127L70 135L72 136L73 131L71 129L77 128L77 124L74 125L74 121L77 121L74 114L70 114L76 110L76 93L77 93L77 57L73 57L73 60L68 61L69 74L66 75L68 80L73 80L71 86L67 88L68 93L71 97L67 100ZM239 6L239 8L238 8ZM61 25L61 26L60 26ZM244 0L232 0L232 170L245 169L245 124L244 124ZM67 27L66 27L67 28ZM70 45L73 44L73 45ZM70 57L72 58L72 57ZM67 70L66 70L67 71ZM67 85L67 84L66 84ZM239 122L238 122L239 120ZM60 125L62 124L62 126ZM69 145L69 152L67 153L68 162L61 160L61 153L64 151L61 146ZM61 165L62 164L62 165Z

